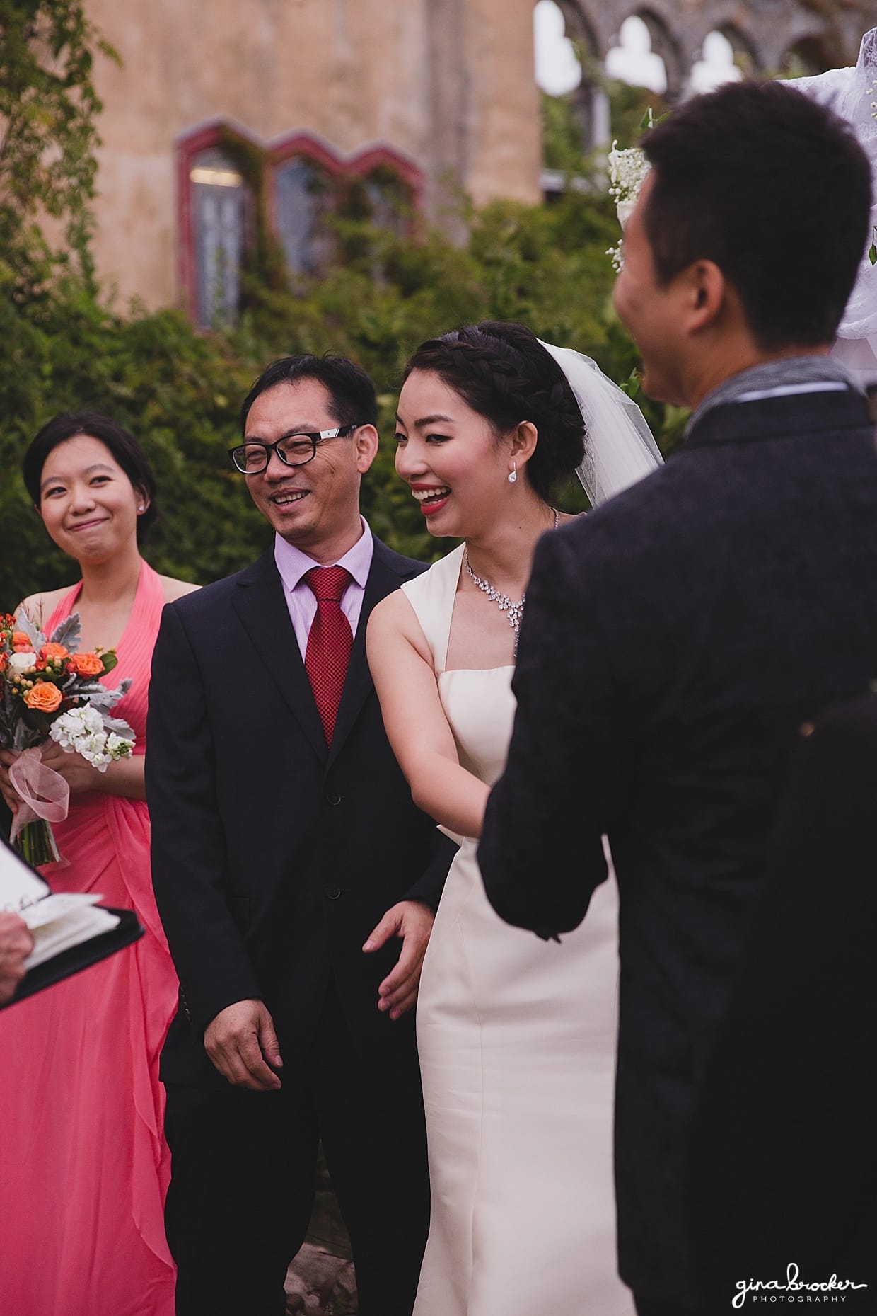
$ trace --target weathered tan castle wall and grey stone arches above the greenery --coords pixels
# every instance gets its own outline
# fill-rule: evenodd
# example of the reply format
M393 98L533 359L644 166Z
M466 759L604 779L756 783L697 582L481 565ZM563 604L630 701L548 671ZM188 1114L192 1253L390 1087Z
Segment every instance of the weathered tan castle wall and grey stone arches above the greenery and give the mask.
M602 61L642 13L671 95L719 28L777 67L803 43L855 62L874 21L860 0L559 0L569 36ZM866 4L865 4L866 7ZM873 7L873 5L872 5ZM95 255L120 304L184 303L187 203L180 142L212 124L270 146L296 133L344 161L388 147L418 171L433 221L460 191L540 197L534 0L85 0L118 50L99 57Z

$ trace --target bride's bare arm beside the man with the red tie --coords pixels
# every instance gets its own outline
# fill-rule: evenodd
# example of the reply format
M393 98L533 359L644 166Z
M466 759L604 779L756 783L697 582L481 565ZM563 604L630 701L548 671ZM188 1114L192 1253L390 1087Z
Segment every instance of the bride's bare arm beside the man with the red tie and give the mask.
M489 787L460 766L426 638L401 590L373 609L366 651L412 799L450 832L480 836Z

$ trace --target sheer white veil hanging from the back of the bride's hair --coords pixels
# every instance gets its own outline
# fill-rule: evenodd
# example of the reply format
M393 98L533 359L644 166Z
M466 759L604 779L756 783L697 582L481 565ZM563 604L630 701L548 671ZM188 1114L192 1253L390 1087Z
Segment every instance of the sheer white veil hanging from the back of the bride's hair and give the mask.
M572 347L539 340L569 382L585 420L585 459L576 471L592 507L621 494L664 461L632 397Z

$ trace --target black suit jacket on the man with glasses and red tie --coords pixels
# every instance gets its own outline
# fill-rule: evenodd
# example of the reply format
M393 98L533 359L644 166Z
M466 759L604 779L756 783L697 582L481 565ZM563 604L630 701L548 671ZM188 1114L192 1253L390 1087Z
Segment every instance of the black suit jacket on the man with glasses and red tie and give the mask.
M366 622L422 570L375 540L330 749L273 549L164 608L146 787L153 882L181 984L166 1082L225 1083L202 1034L237 1000L266 1001L281 1053L306 1046L330 976L363 1050L413 1054L410 1015L377 1011L400 942L371 955L362 945L396 901L438 904L456 848L414 807L389 747Z

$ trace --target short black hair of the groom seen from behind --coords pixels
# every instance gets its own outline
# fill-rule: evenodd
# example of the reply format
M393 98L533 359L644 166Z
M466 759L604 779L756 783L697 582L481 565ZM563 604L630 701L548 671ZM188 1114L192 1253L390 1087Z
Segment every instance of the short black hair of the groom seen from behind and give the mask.
M713 261L763 350L832 342L870 232L852 129L794 87L747 79L685 101L642 146L659 282Z

